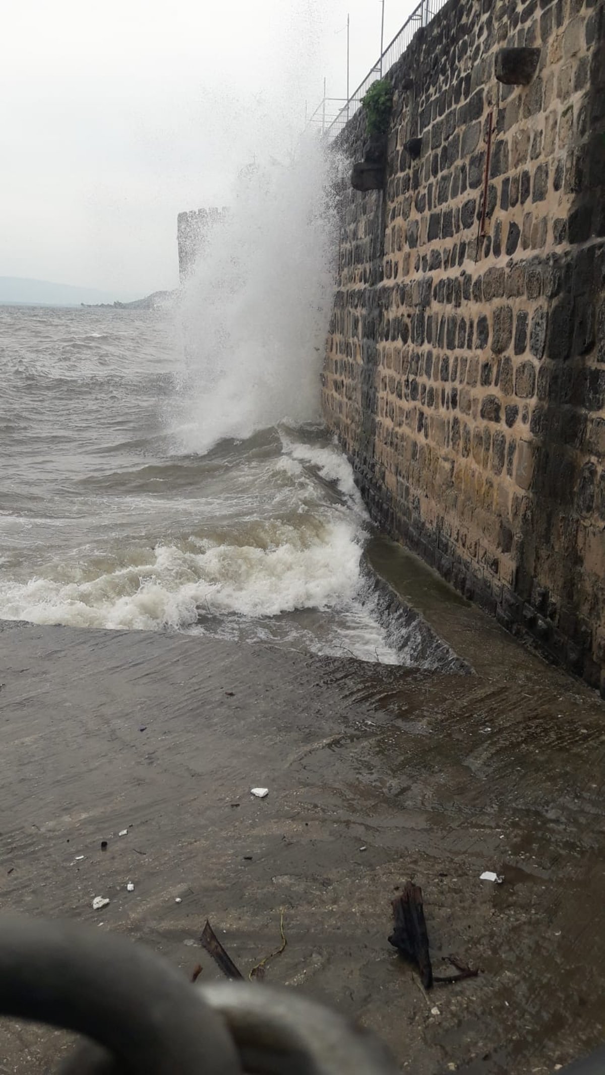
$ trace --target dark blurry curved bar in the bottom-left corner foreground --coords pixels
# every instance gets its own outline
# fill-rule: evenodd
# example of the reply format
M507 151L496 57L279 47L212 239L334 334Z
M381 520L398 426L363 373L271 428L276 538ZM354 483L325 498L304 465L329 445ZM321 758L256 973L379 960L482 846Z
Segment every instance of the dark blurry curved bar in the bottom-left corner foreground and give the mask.
M85 1034L133 1075L241 1075L200 990L143 946L74 922L0 917L0 1015Z

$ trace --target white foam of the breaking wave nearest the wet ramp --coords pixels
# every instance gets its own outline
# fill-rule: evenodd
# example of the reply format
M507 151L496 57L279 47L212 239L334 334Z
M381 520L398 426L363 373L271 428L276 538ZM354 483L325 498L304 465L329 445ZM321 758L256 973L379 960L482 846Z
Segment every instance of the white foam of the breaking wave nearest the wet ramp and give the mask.
M116 565L91 578L4 583L2 615L37 624L157 629L192 625L199 610L261 617L349 606L360 557L349 520L273 522L264 528L262 544L261 536L254 545L208 540L160 545L148 562Z

